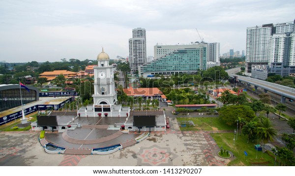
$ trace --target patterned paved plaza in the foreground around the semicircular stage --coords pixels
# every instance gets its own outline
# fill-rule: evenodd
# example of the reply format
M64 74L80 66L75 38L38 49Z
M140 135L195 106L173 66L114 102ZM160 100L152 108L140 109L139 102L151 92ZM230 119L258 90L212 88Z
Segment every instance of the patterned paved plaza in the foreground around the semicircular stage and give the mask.
M108 155L48 154L34 132L0 132L0 166L225 166L209 132L168 131Z

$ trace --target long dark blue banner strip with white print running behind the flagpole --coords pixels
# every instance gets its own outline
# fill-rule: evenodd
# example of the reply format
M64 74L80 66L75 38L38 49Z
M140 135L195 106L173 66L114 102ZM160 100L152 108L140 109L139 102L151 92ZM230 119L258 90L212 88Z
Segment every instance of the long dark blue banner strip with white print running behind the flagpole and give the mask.
M65 103L71 103L75 101L75 97L71 97L63 102L61 102L60 104L58 105L35 105L35 106L30 106L26 109L24 109L24 113L25 115L28 115L30 113L33 113L35 111L39 111L39 110L59 110L59 108L62 108L65 106ZM20 111L17 111L17 112L14 112L12 114L8 114L6 116L3 116L3 117L0 117L0 125L3 125L5 123L8 123L12 120L16 120L18 118L22 118L23 117L23 112L20 110Z

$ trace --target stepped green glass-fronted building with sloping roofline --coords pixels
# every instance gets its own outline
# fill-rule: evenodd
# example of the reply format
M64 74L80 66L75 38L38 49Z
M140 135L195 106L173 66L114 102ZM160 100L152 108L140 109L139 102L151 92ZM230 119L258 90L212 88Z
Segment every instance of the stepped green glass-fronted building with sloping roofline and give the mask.
M166 56L153 60L139 67L143 77L161 74L192 73L207 69L207 44L191 45L190 48L178 49Z

